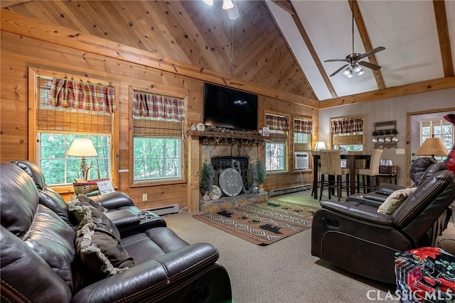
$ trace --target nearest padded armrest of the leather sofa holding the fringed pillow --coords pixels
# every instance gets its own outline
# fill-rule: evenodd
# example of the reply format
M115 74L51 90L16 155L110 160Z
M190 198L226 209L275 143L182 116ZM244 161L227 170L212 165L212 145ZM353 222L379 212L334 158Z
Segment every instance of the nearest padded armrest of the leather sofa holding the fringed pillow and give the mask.
M140 298L145 301L158 290L209 267L216 260L218 250L210 244L191 244L87 285L74 295L73 302L140 301Z

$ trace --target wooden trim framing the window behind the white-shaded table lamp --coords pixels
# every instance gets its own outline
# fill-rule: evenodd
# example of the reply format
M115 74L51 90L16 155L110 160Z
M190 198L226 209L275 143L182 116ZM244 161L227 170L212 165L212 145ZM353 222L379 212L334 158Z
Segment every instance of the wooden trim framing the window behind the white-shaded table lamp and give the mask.
M39 75L45 77L68 77L74 79L82 79L82 81L92 82L92 83L100 83L103 85L109 85L111 83L107 82L106 80L92 78L92 77L85 77L84 75L77 75L77 74L68 74L63 72L56 72L53 70L45 70L39 67L28 67L28 160L34 163L38 163L38 150L37 150L37 140L38 140L38 128L37 128L37 102L36 97L38 96L38 82L37 77ZM114 89L114 99L118 100L118 92L117 89ZM118 112L118 111L117 111ZM111 176L112 184L118 184L119 182L119 155L117 146L119 145L119 119L118 114L112 114L112 133L110 134L110 172L109 175ZM55 131L57 132L57 131ZM64 132L67 133L67 132ZM70 132L68 132L70 133ZM62 193L71 193L74 192L74 188L72 184L65 184L65 185L55 185L51 186L56 192Z

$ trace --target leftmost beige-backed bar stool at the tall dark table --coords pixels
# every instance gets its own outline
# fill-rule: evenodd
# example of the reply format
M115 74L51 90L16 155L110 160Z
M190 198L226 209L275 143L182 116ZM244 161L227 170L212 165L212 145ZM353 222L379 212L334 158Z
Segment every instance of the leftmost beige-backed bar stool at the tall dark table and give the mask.
M341 199L341 177L346 175L346 185L347 185L347 195L349 195L349 168L342 168L341 167L341 156L339 150L321 150L321 194L319 195L319 201L322 198L322 192L324 186L328 187L328 199L331 199L331 190L333 188L337 189L338 193L338 201ZM324 182L324 176L328 175L328 179L335 180L336 177L336 184L330 182L326 184Z

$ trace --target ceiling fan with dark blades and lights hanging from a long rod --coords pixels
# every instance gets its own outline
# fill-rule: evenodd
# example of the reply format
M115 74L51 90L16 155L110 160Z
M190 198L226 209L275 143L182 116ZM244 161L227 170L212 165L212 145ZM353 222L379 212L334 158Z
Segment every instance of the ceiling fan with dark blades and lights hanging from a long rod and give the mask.
M345 67L347 67L347 68L343 72L343 75L345 75L348 78L353 77L354 72L356 72L359 76L363 75L363 73L365 73L365 71L363 70L362 66L368 67L371 70L380 70L380 68L381 68L379 65L375 65L373 63L370 63L367 61L360 61L360 60L362 60L364 57L368 57L370 55L378 53L381 50L385 50L385 47L378 46L378 48L373 48L373 50L368 50L368 52L363 53L363 54L354 53L354 5L355 5L355 2L356 1L353 1L353 9L352 9L352 11L353 11L353 53L351 53L350 55L347 55L345 59L325 60L324 62L348 62L348 64L343 65L342 67L338 68L338 70L333 72L332 75L330 75L329 77L332 77L332 76L338 74L338 72L341 72L341 70L343 70L343 68L345 68Z

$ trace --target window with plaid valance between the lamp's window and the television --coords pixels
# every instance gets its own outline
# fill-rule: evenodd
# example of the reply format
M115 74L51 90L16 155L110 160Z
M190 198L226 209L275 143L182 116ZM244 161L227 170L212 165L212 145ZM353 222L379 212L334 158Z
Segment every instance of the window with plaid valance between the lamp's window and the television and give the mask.
M133 92L133 181L181 179L183 99Z

